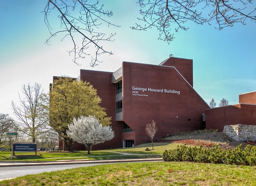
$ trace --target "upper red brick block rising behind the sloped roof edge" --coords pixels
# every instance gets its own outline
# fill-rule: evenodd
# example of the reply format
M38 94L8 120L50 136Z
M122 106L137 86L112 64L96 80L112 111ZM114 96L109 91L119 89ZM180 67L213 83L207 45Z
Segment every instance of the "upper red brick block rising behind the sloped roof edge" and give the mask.
M193 87L193 60L170 57L162 66L175 67L187 82Z

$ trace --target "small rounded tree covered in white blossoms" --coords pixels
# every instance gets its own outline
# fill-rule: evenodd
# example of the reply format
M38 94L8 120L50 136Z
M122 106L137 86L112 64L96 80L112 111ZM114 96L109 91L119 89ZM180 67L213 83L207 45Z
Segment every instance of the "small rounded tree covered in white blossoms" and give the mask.
M95 116L80 116L77 120L73 119L73 124L68 125L67 135L69 138L88 147L88 155L90 154L91 145L104 143L114 138L115 134L112 128L102 126Z

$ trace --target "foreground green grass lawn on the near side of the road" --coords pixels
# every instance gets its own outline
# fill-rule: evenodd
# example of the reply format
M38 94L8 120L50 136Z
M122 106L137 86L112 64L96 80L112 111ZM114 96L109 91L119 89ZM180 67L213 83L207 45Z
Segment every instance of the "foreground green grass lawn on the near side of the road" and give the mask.
M123 163L22 176L1 181L0 185L253 186L256 185L256 171L252 166L192 162Z

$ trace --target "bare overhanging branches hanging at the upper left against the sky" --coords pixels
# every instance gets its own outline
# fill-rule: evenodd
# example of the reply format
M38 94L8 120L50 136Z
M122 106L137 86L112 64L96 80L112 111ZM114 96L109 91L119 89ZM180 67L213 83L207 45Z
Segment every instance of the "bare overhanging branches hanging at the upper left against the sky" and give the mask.
M112 11L105 11L102 8L103 5L99 5L98 0L69 0L68 2L66 0L48 0L44 9L44 22L48 26L51 36L46 40L46 43L49 44L53 36L62 33L64 34L63 39L69 37L73 42L73 48L69 51L69 55L74 54L73 62L77 63L77 58L85 58L85 56L90 55L89 52L86 52L87 49L95 47L96 52L91 57L91 67L98 65L98 62L102 62L98 59L101 54L113 54L111 51L105 50L102 43L114 41L112 37L116 34L111 33L107 36L106 33L99 31L98 28L102 23L116 26L106 19L113 15ZM58 18L61 21L59 31L53 31L48 21L53 10L59 12ZM73 14L72 11L74 11Z

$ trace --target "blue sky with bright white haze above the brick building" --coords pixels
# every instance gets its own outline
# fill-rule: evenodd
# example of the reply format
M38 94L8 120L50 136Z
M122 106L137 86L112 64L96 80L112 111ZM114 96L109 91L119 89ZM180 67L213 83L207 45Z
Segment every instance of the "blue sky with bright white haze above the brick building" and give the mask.
M225 98L229 104L236 104L239 94L256 91L254 21L221 31L214 24L187 22L189 29L174 33L175 39L168 44L158 40L154 28L130 28L139 23L140 6L136 2L99 0L105 10L112 10L109 20L120 27L101 26L106 33L116 33L115 41L104 45L114 54L101 55L103 62L91 67L90 56L78 60L80 66L72 62L67 52L72 49L69 38L61 41L62 37L56 36L50 45L45 44L50 36L43 13L47 0L0 0L0 113L12 115L11 101L19 102L23 84L39 83L48 92L53 76L77 78L80 69L115 72L123 61L158 65L170 54L193 60L194 89L207 103L214 98L219 105ZM51 12L54 29L60 25L56 16Z

